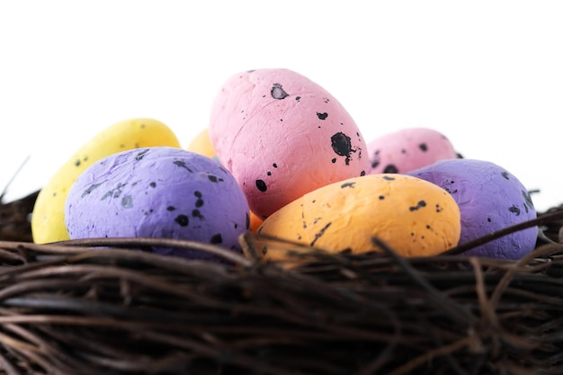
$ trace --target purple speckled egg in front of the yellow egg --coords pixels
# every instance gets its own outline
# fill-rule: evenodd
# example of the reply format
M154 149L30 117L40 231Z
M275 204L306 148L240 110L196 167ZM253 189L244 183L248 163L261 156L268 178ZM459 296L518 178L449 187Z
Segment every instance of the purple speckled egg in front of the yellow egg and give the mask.
M145 147L107 156L81 174L68 192L71 239L166 237L241 252L248 230L246 196L228 170L208 156L175 147ZM216 259L185 249L159 254Z

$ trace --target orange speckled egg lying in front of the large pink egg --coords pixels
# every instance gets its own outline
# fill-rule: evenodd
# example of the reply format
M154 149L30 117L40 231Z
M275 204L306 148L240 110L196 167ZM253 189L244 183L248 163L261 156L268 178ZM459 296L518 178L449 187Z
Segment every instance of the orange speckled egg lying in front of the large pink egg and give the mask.
M439 186L404 174L369 174L303 195L264 219L257 232L356 254L380 251L371 241L378 237L398 254L417 256L456 246L460 227L458 204ZM284 258L267 246L264 253Z

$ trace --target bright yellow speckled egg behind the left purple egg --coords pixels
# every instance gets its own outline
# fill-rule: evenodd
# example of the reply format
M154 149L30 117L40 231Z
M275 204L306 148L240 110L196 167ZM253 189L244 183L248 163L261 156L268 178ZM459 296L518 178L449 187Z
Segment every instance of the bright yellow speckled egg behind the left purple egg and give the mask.
M69 239L64 211L68 190L85 169L105 156L139 147L181 147L174 132L153 119L120 121L103 129L78 148L51 176L35 201L31 214L31 234L38 244Z

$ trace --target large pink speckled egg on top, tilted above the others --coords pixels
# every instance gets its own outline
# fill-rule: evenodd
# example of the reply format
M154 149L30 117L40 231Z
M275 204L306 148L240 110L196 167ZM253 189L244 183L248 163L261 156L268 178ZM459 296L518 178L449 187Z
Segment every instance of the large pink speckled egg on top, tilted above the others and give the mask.
M231 76L212 105L209 131L221 164L262 219L306 192L366 174L370 165L343 105L289 69Z

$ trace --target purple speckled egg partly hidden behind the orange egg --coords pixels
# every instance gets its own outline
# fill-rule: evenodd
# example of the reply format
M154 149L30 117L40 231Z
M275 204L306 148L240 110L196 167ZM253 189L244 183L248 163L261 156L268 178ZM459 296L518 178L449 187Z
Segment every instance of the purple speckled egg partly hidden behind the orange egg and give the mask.
M537 218L532 198L523 183L494 163L448 159L407 174L435 183L450 192L460 206L460 245ZM535 248L537 235L537 227L526 228L464 254L517 260Z

